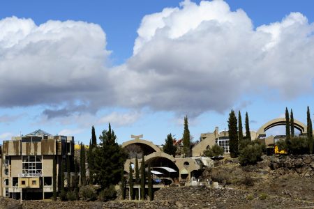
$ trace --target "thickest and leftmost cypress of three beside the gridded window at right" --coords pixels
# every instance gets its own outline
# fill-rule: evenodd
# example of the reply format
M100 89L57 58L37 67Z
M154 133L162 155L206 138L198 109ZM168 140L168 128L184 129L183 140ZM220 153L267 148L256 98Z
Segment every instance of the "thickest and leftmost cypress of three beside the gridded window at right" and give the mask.
M230 157L232 158L238 157L239 155L238 127L237 118L233 110L231 110L229 114L228 127L229 127Z

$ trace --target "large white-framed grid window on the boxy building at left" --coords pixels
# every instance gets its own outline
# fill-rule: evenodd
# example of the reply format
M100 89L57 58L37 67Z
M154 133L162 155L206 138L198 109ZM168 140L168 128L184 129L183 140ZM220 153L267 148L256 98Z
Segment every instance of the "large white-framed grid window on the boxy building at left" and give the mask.
M41 162L41 156L23 156L22 161L22 176L32 177L42 175L43 164Z

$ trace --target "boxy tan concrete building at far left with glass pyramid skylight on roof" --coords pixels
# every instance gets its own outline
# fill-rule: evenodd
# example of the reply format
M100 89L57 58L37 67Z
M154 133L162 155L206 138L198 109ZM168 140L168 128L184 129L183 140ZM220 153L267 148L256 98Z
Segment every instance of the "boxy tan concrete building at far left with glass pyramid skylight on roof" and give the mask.
M58 185L61 160L66 157L70 157L72 168L74 137L52 136L43 130L36 130L3 141L0 196L13 199L20 199L21 196L22 199L50 198L53 192L53 159L57 164Z

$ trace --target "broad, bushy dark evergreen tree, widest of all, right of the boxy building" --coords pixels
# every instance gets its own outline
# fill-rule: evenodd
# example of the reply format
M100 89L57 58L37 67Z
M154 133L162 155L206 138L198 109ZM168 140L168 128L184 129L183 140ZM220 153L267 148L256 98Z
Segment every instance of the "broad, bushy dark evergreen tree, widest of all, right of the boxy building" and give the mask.
M94 176L95 183L105 189L121 180L121 169L126 160L126 153L117 143L110 123L108 130L103 130L99 139L100 146L95 148L94 155Z

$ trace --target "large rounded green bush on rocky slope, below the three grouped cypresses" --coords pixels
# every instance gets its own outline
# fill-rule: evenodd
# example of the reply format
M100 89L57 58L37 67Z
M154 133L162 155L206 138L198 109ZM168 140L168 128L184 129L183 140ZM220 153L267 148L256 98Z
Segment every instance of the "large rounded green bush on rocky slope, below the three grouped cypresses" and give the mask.
M242 166L256 164L262 160L263 145L260 142L252 141L240 151L239 161Z

